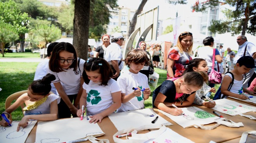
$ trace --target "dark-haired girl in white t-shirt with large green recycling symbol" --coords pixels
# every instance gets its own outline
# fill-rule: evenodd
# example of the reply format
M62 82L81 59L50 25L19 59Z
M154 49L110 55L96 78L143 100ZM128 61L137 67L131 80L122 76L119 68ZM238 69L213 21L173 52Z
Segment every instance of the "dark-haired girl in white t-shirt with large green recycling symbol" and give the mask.
M106 60L92 58L84 65L83 93L80 99L80 117L82 106L86 107L86 115L90 116L90 123L101 123L107 115L114 113L121 106L121 90L116 80L113 80L112 70Z

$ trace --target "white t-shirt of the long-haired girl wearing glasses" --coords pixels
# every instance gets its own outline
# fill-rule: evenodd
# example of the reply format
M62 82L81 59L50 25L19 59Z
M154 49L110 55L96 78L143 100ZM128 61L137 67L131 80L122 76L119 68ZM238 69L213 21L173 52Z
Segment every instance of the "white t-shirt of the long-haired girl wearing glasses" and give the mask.
M47 72L55 75L56 79L52 81L52 83L61 82L61 85L66 92L67 95L78 94L80 89L80 80L83 73L83 65L85 64L85 60L80 60L80 69L77 67L76 71L73 71L74 68L69 68L68 70L64 70L63 72L52 72L49 67L47 68Z

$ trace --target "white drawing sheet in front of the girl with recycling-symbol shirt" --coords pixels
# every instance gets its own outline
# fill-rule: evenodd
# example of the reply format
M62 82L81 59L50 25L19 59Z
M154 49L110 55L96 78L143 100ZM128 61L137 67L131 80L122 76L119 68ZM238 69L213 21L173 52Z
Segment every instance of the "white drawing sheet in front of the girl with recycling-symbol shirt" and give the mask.
M78 140L87 136L105 134L96 123L89 123L86 117L59 119L55 121L38 122L36 128L36 143L63 143Z

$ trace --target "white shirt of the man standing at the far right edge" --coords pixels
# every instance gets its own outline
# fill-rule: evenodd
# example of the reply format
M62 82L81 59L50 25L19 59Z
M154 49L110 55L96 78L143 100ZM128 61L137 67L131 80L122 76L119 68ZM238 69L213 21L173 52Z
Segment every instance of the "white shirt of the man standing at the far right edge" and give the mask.
M246 48L246 45L247 45L247 48ZM241 58L242 56L244 56L244 50L246 48L246 56L253 56L253 53L256 52L256 46L251 43L251 42L248 42L246 41L244 44L242 44L241 46L239 46L238 48L238 51L237 51L237 54L235 55L234 57L234 61L233 63L236 64L237 63L237 60L239 58Z

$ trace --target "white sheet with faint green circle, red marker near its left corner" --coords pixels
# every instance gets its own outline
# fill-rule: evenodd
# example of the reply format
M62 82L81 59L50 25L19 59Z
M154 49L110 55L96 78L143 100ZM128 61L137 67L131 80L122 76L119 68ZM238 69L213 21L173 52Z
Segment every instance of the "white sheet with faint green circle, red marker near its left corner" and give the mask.
M212 108L213 110L228 114L230 116L235 116L238 114L243 114L256 110L256 107L247 106L245 104L228 99L218 99L214 101L216 103L216 106Z

